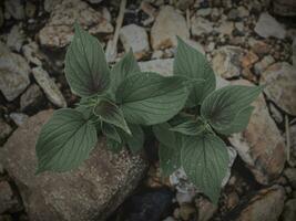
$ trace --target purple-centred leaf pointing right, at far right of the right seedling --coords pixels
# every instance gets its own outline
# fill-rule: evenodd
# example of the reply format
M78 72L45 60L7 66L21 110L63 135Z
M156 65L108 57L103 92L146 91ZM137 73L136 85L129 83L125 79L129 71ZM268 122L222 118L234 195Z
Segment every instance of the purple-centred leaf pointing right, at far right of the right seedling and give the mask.
M261 86L229 85L222 87L204 99L201 115L214 129L220 131L227 129L236 115L249 106L261 92Z

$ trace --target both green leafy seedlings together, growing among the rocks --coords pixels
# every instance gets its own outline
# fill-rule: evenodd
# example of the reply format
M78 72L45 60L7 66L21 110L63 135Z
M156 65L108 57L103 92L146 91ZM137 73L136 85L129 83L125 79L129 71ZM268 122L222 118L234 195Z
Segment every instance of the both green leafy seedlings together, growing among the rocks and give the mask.
M261 87L215 91L215 75L204 56L178 39L174 76L141 72L130 51L111 70L99 41L75 24L65 55L65 77L81 97L75 108L55 110L37 140L38 170L79 167L106 137L110 150L143 147L142 126L153 126L164 176L183 167L212 201L218 199L228 155L216 135L241 131Z

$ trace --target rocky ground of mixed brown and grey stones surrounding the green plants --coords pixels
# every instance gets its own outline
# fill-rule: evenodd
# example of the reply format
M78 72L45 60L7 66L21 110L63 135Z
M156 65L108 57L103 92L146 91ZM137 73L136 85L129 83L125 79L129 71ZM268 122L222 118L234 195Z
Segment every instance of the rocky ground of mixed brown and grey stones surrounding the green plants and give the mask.
M0 2L0 221L296 220L296 3L293 0ZM34 176L34 143L52 109L72 106L65 46L78 22L112 63L133 49L143 71L172 73L175 35L206 54L218 86L266 84L248 127L228 138L233 159L217 206L182 170L161 178L156 145L112 155L98 144L73 172ZM113 45L114 46L114 45Z

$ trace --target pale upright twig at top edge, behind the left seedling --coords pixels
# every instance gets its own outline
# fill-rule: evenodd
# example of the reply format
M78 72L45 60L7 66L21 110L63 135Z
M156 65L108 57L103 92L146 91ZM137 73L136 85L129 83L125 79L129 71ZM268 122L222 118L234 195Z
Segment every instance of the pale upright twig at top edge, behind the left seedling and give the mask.
M116 52L116 45L118 45L118 41L119 41L120 29L122 27L122 22L123 22L123 18L124 18L125 7L126 7L126 0L121 0L120 12L119 12L119 17L116 19L116 27L115 27L114 36L106 44L105 56L106 56L108 62L114 62L116 59L116 53L118 53Z

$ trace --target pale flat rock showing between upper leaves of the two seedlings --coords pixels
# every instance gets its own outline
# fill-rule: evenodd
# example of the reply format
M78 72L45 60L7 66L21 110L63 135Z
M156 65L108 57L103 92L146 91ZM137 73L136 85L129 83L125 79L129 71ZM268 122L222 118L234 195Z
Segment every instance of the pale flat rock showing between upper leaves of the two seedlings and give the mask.
M164 76L173 75L173 59L139 62L142 72L156 72Z

